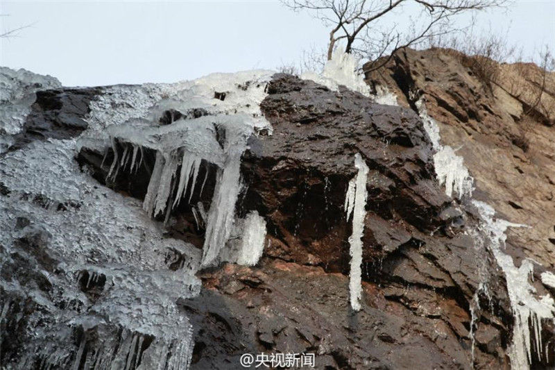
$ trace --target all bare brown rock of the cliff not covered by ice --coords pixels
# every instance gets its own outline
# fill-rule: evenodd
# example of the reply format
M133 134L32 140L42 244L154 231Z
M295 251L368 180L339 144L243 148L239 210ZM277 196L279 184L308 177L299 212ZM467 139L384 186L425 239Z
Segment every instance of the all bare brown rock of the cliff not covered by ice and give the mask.
M404 107L374 104L350 90L333 92L284 74L268 83L261 110L273 134L248 140L236 210L239 217L251 210L264 217L266 248L255 267L224 263L199 271L200 295L178 299L178 310L194 330L191 368L238 369L241 354L262 351L316 353L317 369L510 367L513 314L504 274L472 234L477 211L438 186L432 144L414 108L423 97L444 144L462 145L458 153L477 179L478 199L505 219L533 226L509 231L507 252L548 268L555 261L555 143L546 124L551 116L538 121L539 111L526 114L522 101L495 85L487 90L456 56L442 51L406 51L367 77L387 85ZM40 92L19 145L78 134L97 94L103 90ZM360 312L349 305L352 226L343 209L357 172L356 153L370 169ZM83 176L90 174L123 198L142 199L154 154L145 151L144 168L122 170L108 181L102 161L110 163L112 154L104 155L101 148L83 146L76 158L88 169ZM194 201L209 205L214 181L208 176L207 190ZM0 187L2 196L9 192ZM26 227L24 219L18 222ZM180 206L163 236L201 248L204 235L194 222L191 208ZM30 234L17 248L33 249L33 258L53 270L55 262L40 254L41 244L40 235ZM180 264L179 258L166 262L171 269ZM24 262L13 266L25 275ZM37 276L31 280L42 281L31 272ZM534 271L536 286L545 292L538 283L541 272ZM477 294L484 280L489 295ZM477 321L474 300L485 308ZM545 323L543 329L552 361L553 327ZM2 358L17 355L19 346L2 335ZM533 367L552 366L542 361L534 360Z

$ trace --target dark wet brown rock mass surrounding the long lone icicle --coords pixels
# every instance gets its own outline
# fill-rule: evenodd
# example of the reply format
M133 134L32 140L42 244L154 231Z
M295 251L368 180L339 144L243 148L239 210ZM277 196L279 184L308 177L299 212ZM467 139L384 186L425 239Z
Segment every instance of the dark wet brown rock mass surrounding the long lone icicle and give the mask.
M259 267L200 273L205 291L182 301L196 328L194 367L232 367L245 351L289 349L316 351L319 368L403 369L427 353L423 368L468 369L469 302L484 274L493 295L480 297L491 313L477 326L475 364L506 366L512 316L503 276L488 271L492 256L465 233L473 211L437 185L418 115L287 75L274 76L267 91L261 109L273 135L250 138L237 206L239 216L257 210L266 219L266 257ZM351 225L343 210L355 153L370 168L358 314L348 305ZM101 158L92 148L80 152L99 180ZM127 192L142 183L130 193L144 196L148 174L124 172L108 185ZM190 212L174 217L192 223Z

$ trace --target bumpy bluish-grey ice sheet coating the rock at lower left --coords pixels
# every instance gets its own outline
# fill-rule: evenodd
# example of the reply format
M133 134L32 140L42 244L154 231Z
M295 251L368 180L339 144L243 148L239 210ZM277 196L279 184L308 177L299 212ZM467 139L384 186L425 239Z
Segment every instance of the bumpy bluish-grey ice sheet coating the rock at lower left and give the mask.
M12 271L0 278L0 324L24 354L6 366L187 369L192 328L176 301L200 291L200 253L75 155L75 140L46 140L0 158L0 259ZM169 269L171 251L182 268Z

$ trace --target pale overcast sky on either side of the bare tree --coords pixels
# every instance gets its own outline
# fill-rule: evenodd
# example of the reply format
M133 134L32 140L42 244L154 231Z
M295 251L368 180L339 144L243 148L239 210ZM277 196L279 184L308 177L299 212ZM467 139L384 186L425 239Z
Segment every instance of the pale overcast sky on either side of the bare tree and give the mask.
M325 46L329 31L278 1L0 0L0 65L64 85L175 82L212 72L276 67ZM514 1L481 15L525 53L555 49L555 0Z

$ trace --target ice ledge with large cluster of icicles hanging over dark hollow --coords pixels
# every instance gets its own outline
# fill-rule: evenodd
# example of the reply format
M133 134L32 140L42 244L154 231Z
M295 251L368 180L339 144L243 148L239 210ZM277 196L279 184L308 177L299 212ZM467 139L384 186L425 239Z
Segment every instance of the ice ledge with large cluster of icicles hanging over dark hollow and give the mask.
M248 115L200 117L187 121L181 119L162 127L123 124L110 131L114 159L108 177L115 178L120 168L137 171L144 158L142 146L156 151L143 208L154 217L164 214L166 221L171 211L184 199L190 203L196 191L203 193L209 165L216 166L216 184L210 209L205 212L202 203L198 203L198 210L192 208L194 217L197 220L200 218L197 224L200 221L205 224L201 267L212 264L219 257L238 224L244 226L243 239L252 243L241 244L248 251L238 251L234 262L241 259L248 260L248 264L256 264L257 260L241 256L261 255L264 249L264 219L256 212L251 212L253 215L250 216L251 219L255 215L258 217L255 222L238 222L235 219L235 206L242 187L241 155L246 149L248 137L253 135L253 124L249 119ZM225 137L223 144L217 140L218 133L223 133L221 135ZM205 166L202 182L198 178L201 165ZM256 237L248 228L256 229Z

